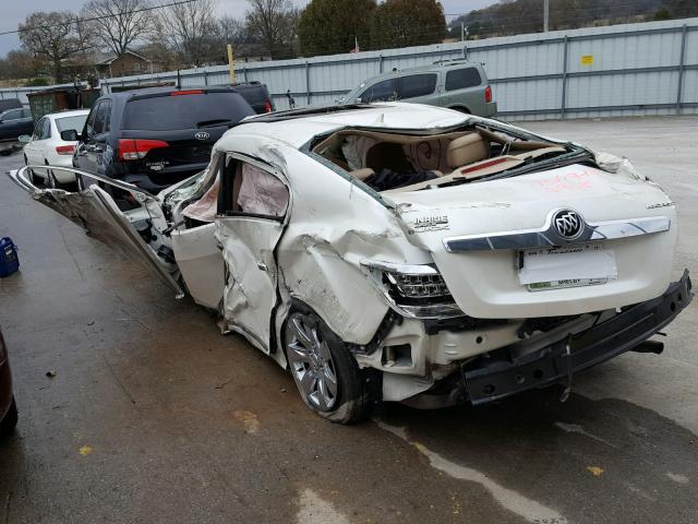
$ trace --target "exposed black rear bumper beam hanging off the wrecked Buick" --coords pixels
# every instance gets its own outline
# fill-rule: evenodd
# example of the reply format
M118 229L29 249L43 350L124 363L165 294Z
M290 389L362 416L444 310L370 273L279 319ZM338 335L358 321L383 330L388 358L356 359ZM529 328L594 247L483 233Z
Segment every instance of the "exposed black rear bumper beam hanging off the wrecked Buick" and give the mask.
M569 343L558 341L519 358L480 360L479 367L466 364L462 377L468 397L478 405L569 381L574 373L636 348L672 322L693 299L690 289L686 270L661 297L625 308Z

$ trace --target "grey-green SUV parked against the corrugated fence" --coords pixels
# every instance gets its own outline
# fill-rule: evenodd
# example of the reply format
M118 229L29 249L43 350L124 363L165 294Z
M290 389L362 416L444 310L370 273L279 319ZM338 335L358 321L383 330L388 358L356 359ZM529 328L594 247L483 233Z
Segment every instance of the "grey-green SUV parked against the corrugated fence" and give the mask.
M401 100L448 107L491 117L497 112L482 64L446 60L414 69L394 70L361 82L340 104Z

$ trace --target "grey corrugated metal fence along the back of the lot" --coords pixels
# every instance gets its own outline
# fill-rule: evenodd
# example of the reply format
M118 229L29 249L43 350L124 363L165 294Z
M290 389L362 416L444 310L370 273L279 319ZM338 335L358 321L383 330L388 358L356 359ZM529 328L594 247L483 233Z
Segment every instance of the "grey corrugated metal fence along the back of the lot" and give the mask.
M698 19L586 27L465 43L238 63L238 81L269 87L278 109L330 104L358 83L394 68L437 60L482 62L498 116L508 120L698 114ZM226 66L108 79L112 86L172 82L225 85ZM0 90L0 98L35 87Z

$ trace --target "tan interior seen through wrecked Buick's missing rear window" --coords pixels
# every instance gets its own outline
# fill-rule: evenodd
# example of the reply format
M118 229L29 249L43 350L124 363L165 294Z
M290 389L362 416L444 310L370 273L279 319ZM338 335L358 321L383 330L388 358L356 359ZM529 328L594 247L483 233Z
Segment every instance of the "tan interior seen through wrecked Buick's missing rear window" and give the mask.
M477 126L431 135L349 129L327 136L312 152L383 192L477 180L567 150Z

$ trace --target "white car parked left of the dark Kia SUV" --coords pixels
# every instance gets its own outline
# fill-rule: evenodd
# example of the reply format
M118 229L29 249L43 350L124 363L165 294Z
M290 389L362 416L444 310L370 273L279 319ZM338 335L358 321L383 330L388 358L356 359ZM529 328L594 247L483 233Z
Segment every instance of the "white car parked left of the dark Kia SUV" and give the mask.
M26 144L24 163L27 166L51 166L28 169L35 183L56 188L75 182L74 172L59 168L73 167L73 153L77 142L62 140L61 132L73 129L81 133L88 114L89 109L76 109L46 115L36 122L31 136L20 136L20 142Z

